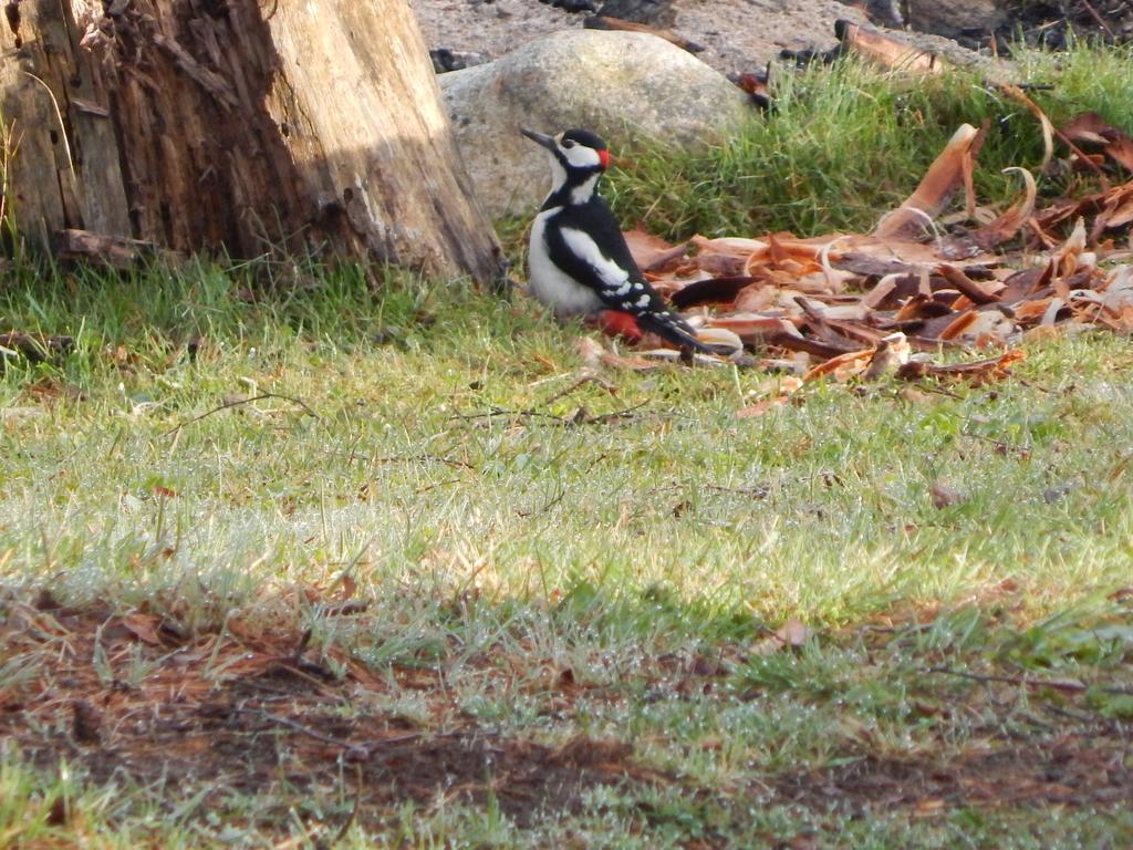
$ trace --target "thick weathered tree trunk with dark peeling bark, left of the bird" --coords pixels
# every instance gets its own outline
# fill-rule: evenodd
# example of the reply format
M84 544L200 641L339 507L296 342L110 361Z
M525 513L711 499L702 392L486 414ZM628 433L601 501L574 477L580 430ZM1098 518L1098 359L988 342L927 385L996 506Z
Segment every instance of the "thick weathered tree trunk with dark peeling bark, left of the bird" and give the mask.
M406 0L3 3L5 199L33 243L500 275Z

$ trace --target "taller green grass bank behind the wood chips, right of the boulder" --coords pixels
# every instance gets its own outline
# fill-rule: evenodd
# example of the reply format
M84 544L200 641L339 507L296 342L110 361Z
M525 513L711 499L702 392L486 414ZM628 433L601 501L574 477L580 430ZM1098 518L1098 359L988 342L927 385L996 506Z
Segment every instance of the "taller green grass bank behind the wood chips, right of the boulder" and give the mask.
M1056 126L1096 111L1126 131L1133 114L1133 53L1080 44L1066 53L1028 51L1015 82ZM988 126L976 171L981 203L1020 194L1004 168L1042 160L1038 121L977 75L955 71L917 84L855 61L775 76L774 112L722 144L673 156L663 147L627 151L606 195L623 220L672 239L693 233L800 236L869 230L900 204L961 124ZM1048 173L1040 192L1073 192L1081 177Z

